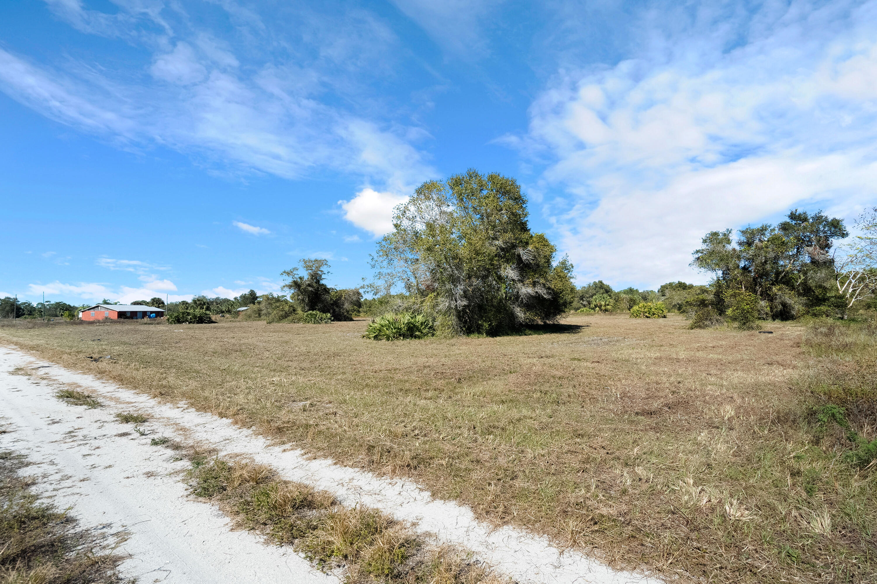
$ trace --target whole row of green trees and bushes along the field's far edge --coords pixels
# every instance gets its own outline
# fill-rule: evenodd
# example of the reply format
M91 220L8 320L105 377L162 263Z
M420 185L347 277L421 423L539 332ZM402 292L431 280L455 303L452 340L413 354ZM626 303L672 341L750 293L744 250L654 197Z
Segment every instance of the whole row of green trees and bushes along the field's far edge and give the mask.
M305 258L282 272L282 293L132 304L166 308L174 322L206 323L226 314L269 323L385 316L370 330L374 338L509 334L556 322L569 311L646 317L670 311L686 314L692 327L726 321L755 327L758 320L846 318L877 307L877 208L859 217L862 235L839 255L835 243L849 236L844 222L794 209L775 226L740 229L737 237L732 229L706 234L691 265L712 275L708 285L677 281L657 291L616 291L602 280L576 288L573 264L556 257L545 234L531 232L526 205L515 179L470 169L424 182L394 209L394 229L378 242L369 285L332 288L324 281L328 261ZM0 299L0 318L12 316L12 305L13 299ZM46 317L70 318L87 306L46 303ZM17 318L41 318L42 309L24 301L15 311ZM390 332L377 332L384 328Z

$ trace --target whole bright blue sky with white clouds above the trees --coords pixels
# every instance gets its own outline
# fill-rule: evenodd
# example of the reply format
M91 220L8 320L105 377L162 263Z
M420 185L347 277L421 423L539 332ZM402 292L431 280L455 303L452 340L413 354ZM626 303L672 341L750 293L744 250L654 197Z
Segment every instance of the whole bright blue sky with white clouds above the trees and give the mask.
M877 202L877 2L0 4L0 295L371 275L425 179L516 177L579 285Z

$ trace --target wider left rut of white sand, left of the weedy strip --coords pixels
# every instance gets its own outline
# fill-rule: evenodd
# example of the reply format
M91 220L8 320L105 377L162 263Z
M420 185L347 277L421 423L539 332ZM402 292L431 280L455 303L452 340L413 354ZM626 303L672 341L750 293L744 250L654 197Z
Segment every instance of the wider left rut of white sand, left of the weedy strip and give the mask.
M139 582L293 582L339 580L253 533L230 531L215 507L190 500L181 473L187 461L150 446L150 436L121 426L105 408L86 409L54 398L56 383L11 374L25 364L0 362L0 449L25 454L41 477L36 489L82 526L106 532L127 559L120 566ZM46 368L47 369L47 368ZM119 435L127 434L127 435Z

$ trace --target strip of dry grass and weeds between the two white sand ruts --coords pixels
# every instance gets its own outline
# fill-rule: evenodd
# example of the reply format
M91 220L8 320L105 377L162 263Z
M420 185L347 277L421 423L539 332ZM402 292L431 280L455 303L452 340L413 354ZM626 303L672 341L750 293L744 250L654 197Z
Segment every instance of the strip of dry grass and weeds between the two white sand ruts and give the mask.
M501 581L461 552L427 548L406 525L378 510L348 509L330 493L282 481L262 465L198 459L189 471L189 489L219 503L240 528L292 545L323 569L346 567L351 583Z

